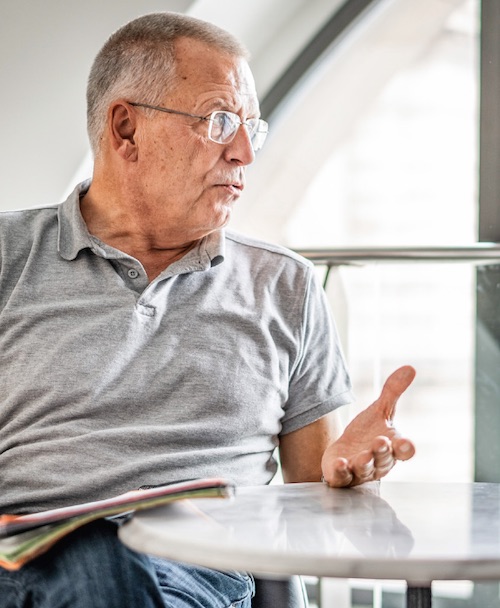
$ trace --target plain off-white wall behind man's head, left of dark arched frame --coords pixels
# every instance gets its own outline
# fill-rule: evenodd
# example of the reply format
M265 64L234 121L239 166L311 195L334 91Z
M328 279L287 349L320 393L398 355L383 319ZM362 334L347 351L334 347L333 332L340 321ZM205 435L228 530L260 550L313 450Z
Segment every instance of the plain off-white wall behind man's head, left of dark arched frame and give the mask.
M3 0L0 209L58 202L76 176L88 172L88 71L107 37L126 21L174 10L226 27L250 48L256 80L264 92L286 64L286 56L296 53L336 4L332 0Z

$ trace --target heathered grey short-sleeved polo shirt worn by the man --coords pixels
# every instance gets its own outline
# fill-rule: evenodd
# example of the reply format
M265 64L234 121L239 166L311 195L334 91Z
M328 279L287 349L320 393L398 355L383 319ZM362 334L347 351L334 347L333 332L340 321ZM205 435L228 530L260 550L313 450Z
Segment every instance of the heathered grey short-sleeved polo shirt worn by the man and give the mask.
M90 235L80 185L0 214L0 509L222 476L352 400L312 265L216 232L151 283Z

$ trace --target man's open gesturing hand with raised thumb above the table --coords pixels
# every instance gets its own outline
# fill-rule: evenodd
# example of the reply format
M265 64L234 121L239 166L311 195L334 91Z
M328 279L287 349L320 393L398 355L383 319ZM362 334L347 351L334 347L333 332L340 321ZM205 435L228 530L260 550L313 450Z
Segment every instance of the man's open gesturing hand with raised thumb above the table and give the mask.
M397 369L386 380L380 397L327 447L321 467L328 485L340 488L380 479L397 460L414 455L413 443L400 437L393 426L397 401L414 377L415 370L409 365Z

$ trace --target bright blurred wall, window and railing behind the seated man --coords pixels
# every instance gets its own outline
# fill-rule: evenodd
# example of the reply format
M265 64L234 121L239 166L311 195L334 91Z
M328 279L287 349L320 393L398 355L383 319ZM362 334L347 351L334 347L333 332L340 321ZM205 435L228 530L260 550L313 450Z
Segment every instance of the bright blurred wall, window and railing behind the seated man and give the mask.
M163 10L251 51L270 135L232 228L315 259L357 395L346 419L414 365L397 421L417 456L390 478L500 481L500 3L3 0L1 210L60 202L91 175L91 62ZM317 602L337 608L403 605L398 583L323 584ZM498 585L435 593L438 607L500 605Z

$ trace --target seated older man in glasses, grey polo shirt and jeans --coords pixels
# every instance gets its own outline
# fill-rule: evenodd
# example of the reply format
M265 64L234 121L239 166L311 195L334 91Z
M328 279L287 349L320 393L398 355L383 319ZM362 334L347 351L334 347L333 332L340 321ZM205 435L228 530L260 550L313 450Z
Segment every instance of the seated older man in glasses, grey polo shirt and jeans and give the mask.
M30 512L222 476L349 486L413 444L401 368L351 400L311 264L225 231L267 125L245 49L208 23L141 17L88 84L90 183L0 221L1 508ZM18 572L3 608L248 607L252 580L134 553L101 521Z

